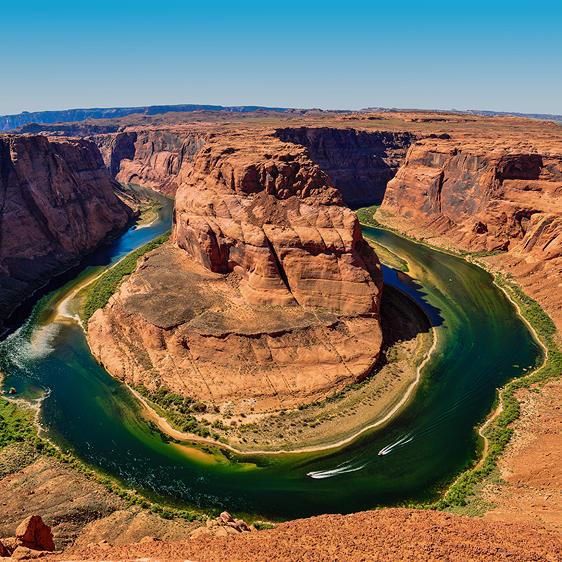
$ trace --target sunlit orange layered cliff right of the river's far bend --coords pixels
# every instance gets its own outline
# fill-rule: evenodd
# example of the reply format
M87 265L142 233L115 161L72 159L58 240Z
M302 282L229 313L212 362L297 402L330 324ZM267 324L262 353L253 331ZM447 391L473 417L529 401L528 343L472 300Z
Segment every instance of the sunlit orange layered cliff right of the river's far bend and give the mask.
M381 209L511 271L562 328L562 139L424 139Z

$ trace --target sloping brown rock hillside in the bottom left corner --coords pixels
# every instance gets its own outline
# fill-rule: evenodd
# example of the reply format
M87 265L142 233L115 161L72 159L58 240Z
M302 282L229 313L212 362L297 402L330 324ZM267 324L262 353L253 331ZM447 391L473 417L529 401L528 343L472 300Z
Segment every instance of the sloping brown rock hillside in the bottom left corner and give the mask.
M15 548L15 537L22 535L27 540L19 525L38 513L51 528L57 550L103 540L128 544L147 535L184 540L200 525L162 519L130 507L59 461L40 456L25 445L10 445L0 451L0 542L11 544L8 538L12 537Z

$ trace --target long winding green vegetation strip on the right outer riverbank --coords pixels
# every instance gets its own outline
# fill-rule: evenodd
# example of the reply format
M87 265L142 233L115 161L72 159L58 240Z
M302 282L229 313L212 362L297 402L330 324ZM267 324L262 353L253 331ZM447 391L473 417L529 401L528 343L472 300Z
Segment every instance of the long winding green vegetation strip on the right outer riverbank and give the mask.
M523 388L534 390L532 387L535 385L543 385L549 379L559 377L562 373L562 353L554 341L556 334L554 322L535 300L527 296L505 276L497 275L495 282L517 303L521 314L547 348L547 357L540 369L527 377L515 379L505 386L501 393L502 412L483 431L488 440L486 457L480 466L461 474L445 496L436 504L429 506L433 509L452 510L458 506L465 506L468 496L477 496L476 488L485 478L497 471L497 461L513 435L513 429L509 426L520 415L519 401L515 397L516 392Z

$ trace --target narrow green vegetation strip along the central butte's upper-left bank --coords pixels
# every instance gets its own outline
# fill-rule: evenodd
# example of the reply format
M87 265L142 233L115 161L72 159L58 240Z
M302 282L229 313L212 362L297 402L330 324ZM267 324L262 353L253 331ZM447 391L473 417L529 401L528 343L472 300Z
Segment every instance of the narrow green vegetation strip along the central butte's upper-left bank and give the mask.
M88 320L92 317L92 314L94 314L98 308L103 308L108 303L123 277L135 271L138 259L167 242L169 238L170 231L158 236L158 238L155 238L152 242L131 252L127 257L123 258L119 263L104 273L97 281L92 283L88 289L80 314L82 323L86 329L88 327Z

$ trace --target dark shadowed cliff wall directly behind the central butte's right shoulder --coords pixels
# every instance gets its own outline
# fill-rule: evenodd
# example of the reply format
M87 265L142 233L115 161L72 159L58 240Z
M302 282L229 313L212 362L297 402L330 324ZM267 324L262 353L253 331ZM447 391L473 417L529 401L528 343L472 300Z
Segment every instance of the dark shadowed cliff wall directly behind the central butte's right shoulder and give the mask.
M305 146L352 207L382 201L387 182L419 136L329 127L288 127L277 129L275 134L285 142Z

